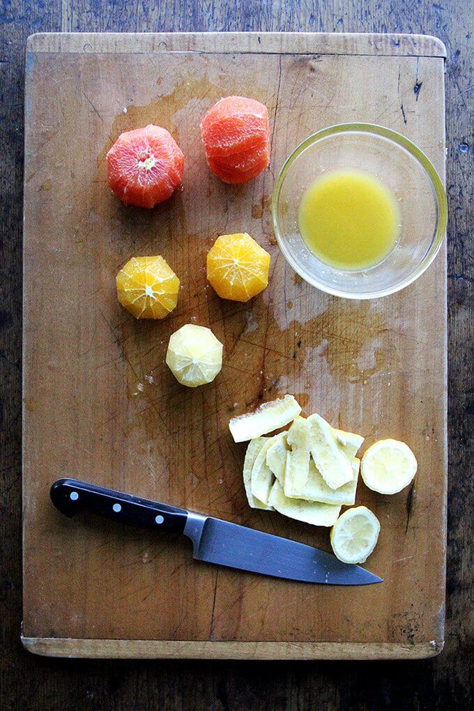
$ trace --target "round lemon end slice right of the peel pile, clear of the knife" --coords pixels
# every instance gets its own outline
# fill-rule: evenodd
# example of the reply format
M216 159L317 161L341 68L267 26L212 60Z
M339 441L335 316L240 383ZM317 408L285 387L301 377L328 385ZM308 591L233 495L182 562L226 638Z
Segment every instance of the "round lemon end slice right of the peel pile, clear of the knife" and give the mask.
M378 493L398 493L413 480L418 464L404 442L381 439L362 456L360 474L365 486Z

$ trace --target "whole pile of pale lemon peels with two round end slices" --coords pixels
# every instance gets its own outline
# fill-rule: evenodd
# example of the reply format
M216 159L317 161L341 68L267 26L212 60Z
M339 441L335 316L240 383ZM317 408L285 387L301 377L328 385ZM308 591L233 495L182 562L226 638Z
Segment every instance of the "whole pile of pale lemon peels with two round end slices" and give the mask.
M316 413L306 418L300 413L296 398L285 395L230 420L235 442L249 442L243 471L249 506L331 526L335 555L344 562L365 562L377 543L377 518L365 506L340 515L342 506L355 504L356 455L364 437L334 429ZM287 425L284 432L264 436ZM416 459L404 442L376 442L362 458L362 479L373 491L397 493L415 474Z

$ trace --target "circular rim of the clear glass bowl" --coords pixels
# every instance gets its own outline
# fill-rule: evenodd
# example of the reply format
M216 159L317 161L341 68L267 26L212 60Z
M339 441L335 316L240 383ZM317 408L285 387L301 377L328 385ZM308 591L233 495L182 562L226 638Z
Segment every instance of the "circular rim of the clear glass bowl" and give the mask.
M335 287L329 287L326 284L322 284L318 281L318 279L311 276L311 274L306 274L306 272L301 269L298 262L296 262L296 260L293 258L291 252L287 249L284 242L284 237L282 237L279 230L277 206L279 203L281 188L283 186L286 173L289 170L291 164L293 164L293 162L298 158L298 156L300 156L301 153L303 153L303 151L305 151L309 146L316 144L318 141L328 136L333 136L340 133L375 134L377 137L388 139L394 144L397 144L397 146L406 149L406 151L408 151L409 154L416 161L418 161L418 163L421 165L421 168L424 169L426 178L431 181L431 188L433 189L433 196L436 201L436 208L438 213L436 220L436 230L434 232L434 236L431 241L429 250L428 252L426 252L426 255L424 256L423 260L421 260L416 269L414 269L414 271L411 272L409 276L399 280L398 282L395 282L394 284L391 284L385 289L380 289L377 292L354 294L350 292L341 291L340 289L337 289ZM315 133L311 134L311 136L308 136L306 139L303 139L303 141L301 141L301 143L298 144L298 146L296 146L293 151L291 151L291 154L289 154L286 161L284 161L283 166L281 166L278 178L276 178L276 183L271 197L271 219L273 222L276 240L278 241L281 252L283 253L286 261L289 262L291 267L293 267L295 272L299 274L300 277L305 280L305 282L308 282L308 284L311 284L311 286L316 287L316 289L320 289L326 294L340 296L343 299L375 299L379 296L388 296L389 294L395 294L401 289L408 287L409 284L412 284L415 279L418 279L418 277L420 277L421 274L423 274L426 269L428 269L429 265L431 264L431 262L433 262L434 258L438 254L438 251L440 250L440 247L443 244L443 239L446 235L446 225L448 221L448 205L446 200L446 191L443 187L441 178L438 175L438 171L436 171L436 168L433 166L426 154L424 154L424 152L418 146L416 146L413 141L410 141L410 139L406 138L402 134L399 134L397 131L394 131L393 129L388 129L384 126L380 126L379 124L356 122L348 124L334 124L333 126L328 126L323 129L320 129L319 131L316 131Z

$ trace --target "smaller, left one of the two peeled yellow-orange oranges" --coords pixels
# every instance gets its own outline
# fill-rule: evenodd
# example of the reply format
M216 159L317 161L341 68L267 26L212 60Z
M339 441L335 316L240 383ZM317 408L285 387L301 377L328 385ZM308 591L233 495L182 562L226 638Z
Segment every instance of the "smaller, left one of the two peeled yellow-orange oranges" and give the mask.
M178 292L179 279L163 257L131 257L117 274L117 298L136 319L164 319Z

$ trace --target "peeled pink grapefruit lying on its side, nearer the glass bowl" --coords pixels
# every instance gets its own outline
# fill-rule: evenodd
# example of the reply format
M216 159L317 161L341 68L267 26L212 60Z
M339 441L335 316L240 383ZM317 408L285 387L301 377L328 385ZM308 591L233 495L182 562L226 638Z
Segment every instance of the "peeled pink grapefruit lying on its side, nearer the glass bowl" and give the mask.
M266 106L243 96L228 96L205 114L200 124L211 171L225 183L246 183L270 161Z

